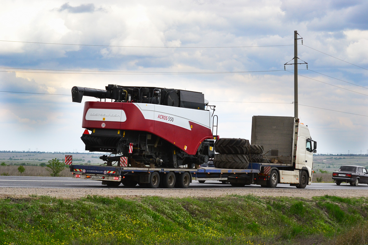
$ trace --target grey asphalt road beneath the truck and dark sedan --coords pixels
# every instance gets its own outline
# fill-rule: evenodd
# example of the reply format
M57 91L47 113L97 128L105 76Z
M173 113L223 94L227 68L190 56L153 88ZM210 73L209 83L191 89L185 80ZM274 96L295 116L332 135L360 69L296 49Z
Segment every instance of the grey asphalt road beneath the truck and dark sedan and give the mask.
M33 176L0 176L0 187L21 187L21 188L124 188L123 185L119 187L107 187L102 185L100 181L96 180L78 180L71 177L33 177ZM137 185L134 188L141 188ZM233 187L229 184L222 184L220 181L206 181L205 183L198 183L193 180L189 188L262 188L259 185L245 185L244 187ZM296 188L288 184L278 184L278 189ZM306 189L314 190L368 190L367 184L359 184L357 187L350 184L342 183L336 185L334 183L312 183L307 185Z

